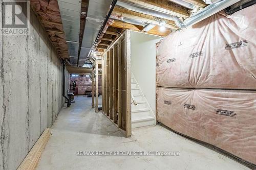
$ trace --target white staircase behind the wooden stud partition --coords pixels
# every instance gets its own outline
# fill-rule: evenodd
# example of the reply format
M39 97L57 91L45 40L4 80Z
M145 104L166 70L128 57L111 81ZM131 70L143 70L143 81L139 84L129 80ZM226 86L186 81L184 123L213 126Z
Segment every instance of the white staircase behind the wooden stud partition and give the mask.
M156 117L148 105L133 74L131 78L132 89L132 128L156 125Z

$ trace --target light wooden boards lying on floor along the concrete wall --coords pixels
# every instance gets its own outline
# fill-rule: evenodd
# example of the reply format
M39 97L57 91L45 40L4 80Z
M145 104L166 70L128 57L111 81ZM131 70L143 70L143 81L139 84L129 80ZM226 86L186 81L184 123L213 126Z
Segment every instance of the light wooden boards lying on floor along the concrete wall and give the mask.
M33 148L30 150L26 158L17 168L18 170L34 170L41 158L41 154L51 136L51 131L47 128L39 139L34 144Z

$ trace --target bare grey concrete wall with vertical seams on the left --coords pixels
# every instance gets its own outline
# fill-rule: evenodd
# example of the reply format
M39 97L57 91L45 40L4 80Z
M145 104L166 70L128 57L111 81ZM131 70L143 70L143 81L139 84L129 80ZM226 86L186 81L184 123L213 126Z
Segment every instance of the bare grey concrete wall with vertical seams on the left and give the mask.
M33 11L29 36L0 36L0 70L0 169L12 170L65 103L61 61Z

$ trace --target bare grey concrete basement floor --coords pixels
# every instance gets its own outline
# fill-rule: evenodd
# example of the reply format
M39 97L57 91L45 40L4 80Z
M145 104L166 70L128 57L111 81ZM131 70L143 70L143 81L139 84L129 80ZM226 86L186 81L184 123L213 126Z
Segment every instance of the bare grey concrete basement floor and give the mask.
M91 99L78 96L62 108L37 169L249 169L161 126L137 128L125 138L94 112ZM77 156L77 151L179 151L180 156Z

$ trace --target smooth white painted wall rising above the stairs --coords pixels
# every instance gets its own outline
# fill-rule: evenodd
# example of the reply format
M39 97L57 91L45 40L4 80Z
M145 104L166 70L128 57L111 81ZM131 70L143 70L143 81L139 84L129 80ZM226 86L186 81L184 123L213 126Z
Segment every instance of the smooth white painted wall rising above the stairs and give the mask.
M141 91L156 114L156 43L162 38L132 32L132 72Z

